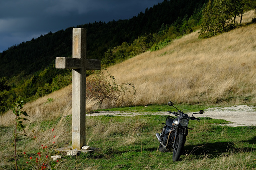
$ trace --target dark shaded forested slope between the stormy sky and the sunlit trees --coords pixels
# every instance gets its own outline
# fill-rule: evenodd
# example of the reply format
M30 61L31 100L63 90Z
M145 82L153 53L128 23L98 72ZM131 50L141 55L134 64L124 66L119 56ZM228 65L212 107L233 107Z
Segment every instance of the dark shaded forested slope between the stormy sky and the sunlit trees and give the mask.
M145 9L129 20L87 23L76 28L87 29L87 57L102 59L104 53L123 42L132 43L139 36L159 31L161 25L173 24L178 18L191 16L201 10L207 0L163 1ZM70 57L72 54L72 28L49 32L36 39L14 45L0 53L0 78L36 73L54 64L56 57ZM106 34L107 33L107 34Z

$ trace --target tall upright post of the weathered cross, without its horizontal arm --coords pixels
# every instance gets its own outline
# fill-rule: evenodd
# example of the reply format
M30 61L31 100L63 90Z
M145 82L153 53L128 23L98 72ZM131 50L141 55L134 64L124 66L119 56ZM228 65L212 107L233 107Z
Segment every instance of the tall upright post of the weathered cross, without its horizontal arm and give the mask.
M73 58L81 61L81 69L72 70L72 147L86 145L86 30L73 29Z

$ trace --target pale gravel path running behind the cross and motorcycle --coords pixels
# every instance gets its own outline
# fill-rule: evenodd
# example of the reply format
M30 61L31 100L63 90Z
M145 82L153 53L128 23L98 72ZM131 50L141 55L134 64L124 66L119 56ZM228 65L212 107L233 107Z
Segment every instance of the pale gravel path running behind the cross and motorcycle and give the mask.
M166 112L120 112L120 111L101 111L99 113L92 113L88 116L97 115L117 115L117 116L134 116L140 114L158 114L167 115ZM191 116L191 114L189 114ZM204 114L195 115L196 117L211 117L213 119L224 119L232 123L225 124L228 126L256 126L256 106L232 106L219 107L204 110Z

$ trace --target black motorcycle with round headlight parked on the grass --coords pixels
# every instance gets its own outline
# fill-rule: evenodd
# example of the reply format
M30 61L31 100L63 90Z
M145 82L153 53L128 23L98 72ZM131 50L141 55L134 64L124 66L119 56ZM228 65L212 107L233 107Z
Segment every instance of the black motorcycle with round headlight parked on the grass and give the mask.
M168 102L169 106L173 106L173 102L169 101ZM199 113L193 113L191 117L189 117L188 114L185 114L183 111L179 110L176 108L178 112L172 112L172 111L167 111L169 114L173 114L174 116L178 117L173 117L173 116L167 116L165 119L165 123L162 123L164 125L162 132L156 133L156 137L159 141L159 151L165 152L165 151L170 151L174 149L173 151L173 161L177 161L184 149L184 145L186 142L186 137L188 135L188 124L189 120L198 120L200 121L199 118L194 117L194 114L203 114L204 111L200 110Z

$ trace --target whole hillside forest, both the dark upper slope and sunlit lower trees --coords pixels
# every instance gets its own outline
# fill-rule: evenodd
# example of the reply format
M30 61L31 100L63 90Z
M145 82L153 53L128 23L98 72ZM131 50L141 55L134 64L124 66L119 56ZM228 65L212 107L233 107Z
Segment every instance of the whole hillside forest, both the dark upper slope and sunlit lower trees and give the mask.
M208 1L164 0L129 20L100 21L76 28L87 29L87 58L101 59L104 68L147 50L158 50L200 29L201 24L201 33L208 34L211 31L203 30L209 27L205 27L209 21L206 16L215 10L214 3ZM239 15L230 10L228 16L232 14ZM72 82L71 70L55 69L54 65L56 57L72 55L72 28L49 32L0 53L0 114L19 97L29 102Z

